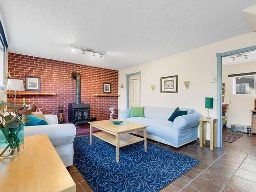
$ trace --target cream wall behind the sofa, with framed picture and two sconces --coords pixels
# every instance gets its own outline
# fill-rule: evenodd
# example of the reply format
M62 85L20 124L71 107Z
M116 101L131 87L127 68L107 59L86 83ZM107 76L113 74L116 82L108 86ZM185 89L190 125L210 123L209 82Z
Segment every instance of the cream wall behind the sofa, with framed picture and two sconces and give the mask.
M126 83L125 74L141 71L142 106L193 108L206 116L205 97L214 97L214 109L210 111L210 115L216 117L217 83L211 83L217 76L216 53L254 45L256 45L256 33L248 33L120 70L118 108L119 110L125 109L126 87L120 88L122 83L124 85ZM178 75L178 93L161 94L160 77L171 75ZM185 88L184 81L190 81L189 89ZM156 85L155 91L152 91L151 84ZM121 118L120 115L119 118Z

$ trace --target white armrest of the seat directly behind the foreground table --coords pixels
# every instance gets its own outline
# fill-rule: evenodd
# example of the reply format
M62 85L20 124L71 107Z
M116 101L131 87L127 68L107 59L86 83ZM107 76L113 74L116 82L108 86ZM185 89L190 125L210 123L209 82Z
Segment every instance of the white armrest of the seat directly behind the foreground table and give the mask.
M72 123L25 126L24 136L47 134L55 148L73 143L76 127Z

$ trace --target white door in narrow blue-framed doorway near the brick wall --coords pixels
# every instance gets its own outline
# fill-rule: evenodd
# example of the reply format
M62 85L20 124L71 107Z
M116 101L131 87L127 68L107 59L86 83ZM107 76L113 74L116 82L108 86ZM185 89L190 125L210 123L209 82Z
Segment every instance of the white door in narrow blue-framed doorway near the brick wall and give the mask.
M126 108L140 106L141 72L126 75Z

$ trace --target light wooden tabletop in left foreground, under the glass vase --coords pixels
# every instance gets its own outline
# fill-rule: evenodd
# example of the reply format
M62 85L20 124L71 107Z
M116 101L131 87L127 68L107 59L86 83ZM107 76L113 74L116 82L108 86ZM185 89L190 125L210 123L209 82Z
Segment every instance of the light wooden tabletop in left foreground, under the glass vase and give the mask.
M25 137L24 152L0 159L0 191L75 192L76 185L47 135Z

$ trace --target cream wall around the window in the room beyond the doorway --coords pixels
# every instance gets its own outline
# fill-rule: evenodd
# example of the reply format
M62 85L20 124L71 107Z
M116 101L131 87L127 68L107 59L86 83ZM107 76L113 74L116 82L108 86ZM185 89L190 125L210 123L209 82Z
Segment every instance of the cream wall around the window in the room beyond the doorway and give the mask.
M251 112L253 109L255 95L233 95L232 79L230 74L256 72L256 61L241 63L239 65L223 66L222 82L225 83L225 100L229 104L226 113L227 126L230 123L251 125Z

